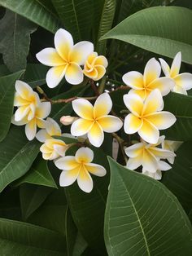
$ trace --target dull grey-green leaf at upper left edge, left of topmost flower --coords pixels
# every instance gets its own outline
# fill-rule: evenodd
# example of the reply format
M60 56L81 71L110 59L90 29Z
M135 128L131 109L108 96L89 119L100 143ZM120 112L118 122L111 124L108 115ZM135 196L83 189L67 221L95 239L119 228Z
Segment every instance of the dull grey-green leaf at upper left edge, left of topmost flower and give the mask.
M0 23L0 52L11 72L26 68L30 34L37 25L7 10Z

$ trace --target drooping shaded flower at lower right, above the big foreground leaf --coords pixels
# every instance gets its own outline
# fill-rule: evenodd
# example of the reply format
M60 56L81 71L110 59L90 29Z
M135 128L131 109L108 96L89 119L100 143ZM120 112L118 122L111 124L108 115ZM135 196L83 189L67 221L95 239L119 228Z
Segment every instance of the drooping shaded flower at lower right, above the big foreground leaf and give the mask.
M175 157L175 153L169 150L158 148L159 144L162 143L162 136L159 138L158 143L151 144L142 141L135 143L129 148L125 148L124 152L129 157L127 162L127 168L135 170L137 167L142 166L143 172L155 173L163 167L163 163L159 163L160 159L167 159L168 157ZM162 162L162 161L161 161ZM166 163L165 163L166 164ZM166 164L167 166L168 164ZM171 167L170 167L171 168Z

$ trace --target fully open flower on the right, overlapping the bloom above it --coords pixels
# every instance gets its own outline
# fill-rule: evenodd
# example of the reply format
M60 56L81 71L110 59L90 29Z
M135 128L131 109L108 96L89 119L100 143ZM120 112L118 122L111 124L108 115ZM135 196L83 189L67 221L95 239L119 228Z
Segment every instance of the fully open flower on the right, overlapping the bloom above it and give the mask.
M176 121L176 117L162 111L164 101L158 89L151 91L143 100L138 95L124 95L124 104L131 113L124 119L124 131L132 135L138 133L148 143L157 143L159 130L167 129Z

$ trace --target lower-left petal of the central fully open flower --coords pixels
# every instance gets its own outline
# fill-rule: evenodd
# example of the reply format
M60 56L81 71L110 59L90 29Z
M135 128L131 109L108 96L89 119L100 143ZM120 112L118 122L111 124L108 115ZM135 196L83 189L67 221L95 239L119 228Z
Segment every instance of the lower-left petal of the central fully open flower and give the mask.
M89 121L89 120L79 118L78 120L72 123L71 134L73 136L85 135L89 132L93 124L94 124L94 121Z

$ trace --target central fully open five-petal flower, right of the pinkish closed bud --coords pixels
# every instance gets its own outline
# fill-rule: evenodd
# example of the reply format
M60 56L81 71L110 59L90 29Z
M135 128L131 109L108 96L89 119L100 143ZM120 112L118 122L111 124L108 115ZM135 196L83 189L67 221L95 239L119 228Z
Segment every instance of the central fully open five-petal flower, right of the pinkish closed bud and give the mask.
M98 96L94 106L86 99L75 99L72 108L81 117L72 123L71 133L74 136L88 135L89 142L94 147L100 147L106 132L120 130L123 123L120 118L108 115L112 101L107 93Z

